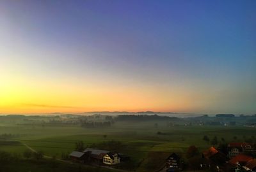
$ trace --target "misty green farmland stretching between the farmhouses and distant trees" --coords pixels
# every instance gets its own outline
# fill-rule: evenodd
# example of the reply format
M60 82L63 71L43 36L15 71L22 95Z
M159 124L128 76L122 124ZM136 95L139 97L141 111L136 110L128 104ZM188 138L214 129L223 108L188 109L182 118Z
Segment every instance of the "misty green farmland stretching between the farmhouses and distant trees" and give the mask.
M213 138L225 138L225 142L244 141L252 137L256 129L243 126L173 126L166 122L116 122L107 128L84 128L74 126L42 126L42 125L0 125L0 134L13 134L12 143L0 143L0 150L22 154L26 149L23 143L47 156L61 158L61 154L69 154L77 141L83 141L86 147L104 141L120 141L122 147L118 152L127 154L134 162L136 171L155 171L164 164L164 159L177 152L186 161L186 150L195 145L200 151L211 147L202 140L204 135ZM161 131L164 134L157 134ZM106 136L104 136L106 135ZM234 139L236 136L236 139Z

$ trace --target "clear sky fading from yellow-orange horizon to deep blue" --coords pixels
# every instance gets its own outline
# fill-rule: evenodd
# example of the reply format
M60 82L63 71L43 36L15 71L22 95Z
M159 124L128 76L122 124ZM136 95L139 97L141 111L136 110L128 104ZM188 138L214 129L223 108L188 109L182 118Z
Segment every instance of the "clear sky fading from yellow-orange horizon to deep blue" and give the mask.
M0 113L256 113L256 1L0 2Z

